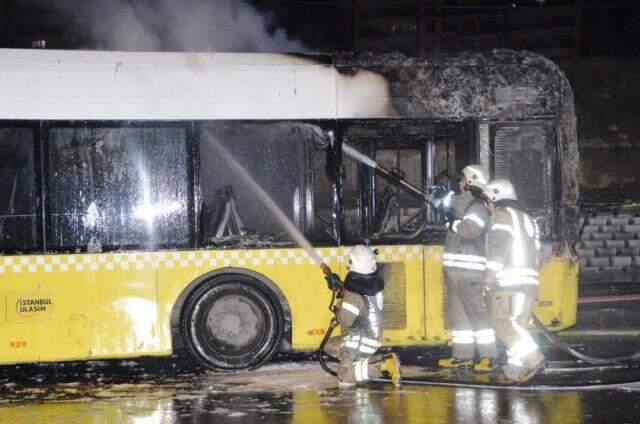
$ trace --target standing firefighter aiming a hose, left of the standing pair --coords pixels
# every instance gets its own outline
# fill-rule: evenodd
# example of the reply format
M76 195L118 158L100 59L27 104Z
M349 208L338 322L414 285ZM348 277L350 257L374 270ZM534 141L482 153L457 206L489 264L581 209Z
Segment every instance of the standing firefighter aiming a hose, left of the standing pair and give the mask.
M446 224L449 231L443 265L453 352L450 358L438 361L441 367L473 366L477 372L488 372L497 363L495 333L484 304L482 287L485 232L489 220L482 189L488 181L486 169L469 165L462 170L459 194L449 200L452 218ZM478 361L474 364L476 349Z

